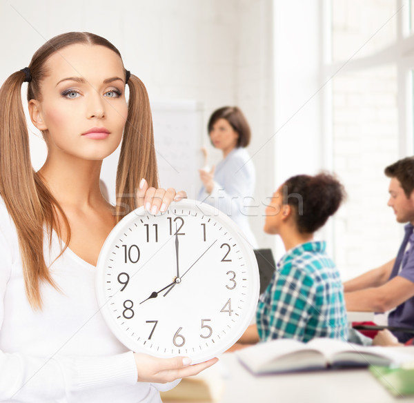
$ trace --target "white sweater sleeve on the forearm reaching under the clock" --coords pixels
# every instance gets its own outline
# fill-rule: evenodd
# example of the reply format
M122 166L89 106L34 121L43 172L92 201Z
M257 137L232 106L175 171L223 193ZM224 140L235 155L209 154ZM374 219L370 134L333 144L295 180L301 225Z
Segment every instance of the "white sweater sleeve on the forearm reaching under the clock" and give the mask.
M135 384L133 353L110 357L34 357L0 353L0 401L44 402L113 384Z

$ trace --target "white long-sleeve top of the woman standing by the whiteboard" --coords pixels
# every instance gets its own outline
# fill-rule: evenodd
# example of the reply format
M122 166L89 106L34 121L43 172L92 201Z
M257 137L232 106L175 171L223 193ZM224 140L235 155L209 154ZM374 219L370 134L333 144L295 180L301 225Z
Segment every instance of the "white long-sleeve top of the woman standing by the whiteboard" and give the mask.
M257 248L257 242L248 223L248 211L253 204L255 182L255 166L246 148L233 148L215 167L212 192L207 193L202 186L197 197L233 219L253 248Z

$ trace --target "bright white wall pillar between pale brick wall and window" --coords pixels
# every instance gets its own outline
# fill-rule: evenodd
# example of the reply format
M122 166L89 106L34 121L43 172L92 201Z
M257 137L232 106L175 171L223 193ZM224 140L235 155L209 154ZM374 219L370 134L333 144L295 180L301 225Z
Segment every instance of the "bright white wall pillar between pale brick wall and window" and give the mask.
M314 175L328 167L321 124L319 1L275 0L273 12L275 131L266 146L275 155L275 190L290 176ZM284 247L276 241L280 256Z

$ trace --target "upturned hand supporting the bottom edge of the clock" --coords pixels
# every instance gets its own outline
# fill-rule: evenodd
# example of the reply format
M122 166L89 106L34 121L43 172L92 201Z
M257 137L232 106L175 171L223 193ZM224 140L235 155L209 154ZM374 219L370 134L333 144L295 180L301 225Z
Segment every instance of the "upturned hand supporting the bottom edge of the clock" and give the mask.
M134 353L138 371L138 382L165 384L182 377L197 375L212 366L218 358L212 358L199 364L191 364L188 357L156 358L143 353Z

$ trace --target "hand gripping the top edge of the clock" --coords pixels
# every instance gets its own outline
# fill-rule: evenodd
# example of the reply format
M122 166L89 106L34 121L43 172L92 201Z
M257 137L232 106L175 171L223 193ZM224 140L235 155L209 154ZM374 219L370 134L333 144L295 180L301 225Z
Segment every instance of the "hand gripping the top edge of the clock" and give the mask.
M145 206L145 209L151 214L156 215L159 211L164 213L170 203L178 202L181 199L186 199L187 193L184 190L179 192L175 188L150 188L148 182L143 178L139 182L139 189L137 191L137 205L138 207Z

